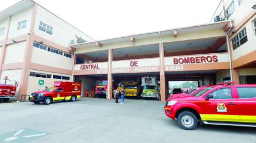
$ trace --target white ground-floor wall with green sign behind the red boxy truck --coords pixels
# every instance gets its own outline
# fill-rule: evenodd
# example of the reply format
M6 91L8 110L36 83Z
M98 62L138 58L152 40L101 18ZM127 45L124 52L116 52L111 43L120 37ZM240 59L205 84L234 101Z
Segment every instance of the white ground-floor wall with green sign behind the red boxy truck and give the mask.
M30 70L30 72L52 74L52 77L53 77L53 74L58 75L58 76L67 76L67 77L70 77L69 81L72 81L72 75L51 73L51 72L45 72L45 71L41 71L41 70ZM44 80L44 85L43 86L38 85L39 80ZM54 78L30 77L29 76L28 88L27 88L26 94L31 94L31 93L36 92L38 90L43 90L43 89L45 89L45 86L50 88L50 87L53 86L54 81L67 81L67 80L59 80L59 79L54 79Z

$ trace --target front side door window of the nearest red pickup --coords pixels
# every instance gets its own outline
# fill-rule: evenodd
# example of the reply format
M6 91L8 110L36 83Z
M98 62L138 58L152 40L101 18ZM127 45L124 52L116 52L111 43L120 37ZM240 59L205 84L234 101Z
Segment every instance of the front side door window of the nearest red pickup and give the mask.
M218 99L231 99L232 93L230 88L217 89L211 93L214 100Z

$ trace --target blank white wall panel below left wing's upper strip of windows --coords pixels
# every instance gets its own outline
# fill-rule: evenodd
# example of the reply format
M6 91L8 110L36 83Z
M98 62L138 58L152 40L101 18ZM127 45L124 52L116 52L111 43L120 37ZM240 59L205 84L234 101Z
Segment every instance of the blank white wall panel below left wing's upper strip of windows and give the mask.
M64 55L55 54L47 50L39 49L38 47L33 47L31 62L72 70L73 55L72 58L68 58Z

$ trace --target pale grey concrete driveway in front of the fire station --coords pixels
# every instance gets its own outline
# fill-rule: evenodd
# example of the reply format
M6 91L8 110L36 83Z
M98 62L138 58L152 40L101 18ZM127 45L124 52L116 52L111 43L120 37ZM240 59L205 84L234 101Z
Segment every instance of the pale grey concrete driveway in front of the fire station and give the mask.
M153 100L80 99L0 104L0 142L256 142L256 128L199 126L183 130Z

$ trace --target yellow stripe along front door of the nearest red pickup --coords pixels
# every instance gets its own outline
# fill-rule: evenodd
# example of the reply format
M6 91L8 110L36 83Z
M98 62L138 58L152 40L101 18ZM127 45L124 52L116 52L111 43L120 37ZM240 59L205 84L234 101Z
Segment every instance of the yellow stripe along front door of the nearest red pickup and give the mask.
M200 114L202 121L226 121L240 122L239 115L224 115L224 114Z

